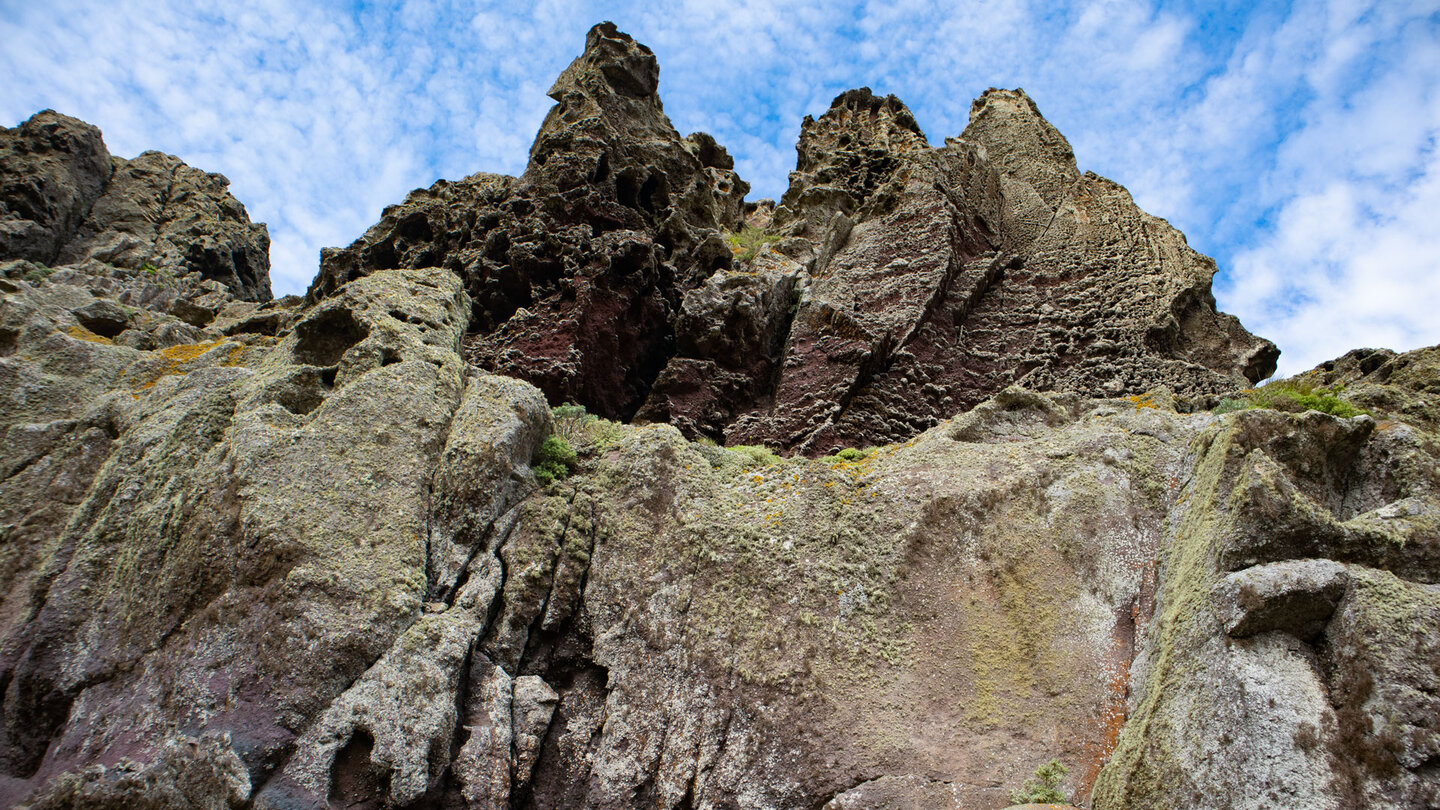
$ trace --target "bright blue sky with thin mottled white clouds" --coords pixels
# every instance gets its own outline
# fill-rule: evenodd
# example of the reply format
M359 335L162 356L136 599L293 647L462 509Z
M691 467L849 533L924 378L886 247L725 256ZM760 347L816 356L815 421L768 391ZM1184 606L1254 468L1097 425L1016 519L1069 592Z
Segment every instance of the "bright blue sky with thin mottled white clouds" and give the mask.
M0 125L53 108L112 154L225 174L275 293L302 293L410 189L523 172L600 20L655 52L675 128L716 135L752 199L844 89L899 95L940 144L1022 86L1081 170L1215 258L1280 375L1440 343L1440 0L0 0Z

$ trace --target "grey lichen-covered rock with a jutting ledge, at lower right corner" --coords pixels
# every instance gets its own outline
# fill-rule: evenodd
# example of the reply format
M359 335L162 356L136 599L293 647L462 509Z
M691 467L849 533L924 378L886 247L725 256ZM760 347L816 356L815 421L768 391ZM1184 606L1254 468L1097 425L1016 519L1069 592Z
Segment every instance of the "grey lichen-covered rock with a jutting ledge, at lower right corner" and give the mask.
M1437 450L1315 411L1195 440L1097 809L1440 800Z

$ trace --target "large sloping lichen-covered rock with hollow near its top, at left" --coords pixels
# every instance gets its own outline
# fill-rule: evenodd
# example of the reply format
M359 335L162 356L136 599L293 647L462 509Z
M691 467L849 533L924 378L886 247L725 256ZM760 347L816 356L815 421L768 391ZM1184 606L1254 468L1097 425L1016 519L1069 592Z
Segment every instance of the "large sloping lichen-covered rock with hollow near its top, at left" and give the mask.
M0 760L39 784L223 728L261 778L415 623L444 568L428 556L428 491L464 399L468 300L444 271L386 274L278 339L145 352L45 331L48 313L69 317L46 308L66 288L6 300L37 301L0 363L42 395L6 409L6 442L30 458L0 484L24 516L7 555L29 562L7 569ZM58 366L58 349L86 360ZM504 424L523 398L490 402L498 414L472 405L464 424ZM531 438L503 453L528 455L544 424L530 414ZM475 471L505 480L507 458ZM84 494L48 502L56 474L81 476Z

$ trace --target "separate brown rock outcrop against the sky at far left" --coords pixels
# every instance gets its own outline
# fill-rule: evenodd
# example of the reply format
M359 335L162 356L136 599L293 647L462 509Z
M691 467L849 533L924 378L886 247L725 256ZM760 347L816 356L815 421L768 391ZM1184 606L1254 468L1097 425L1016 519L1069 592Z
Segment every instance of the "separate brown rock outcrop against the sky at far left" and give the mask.
M226 186L158 151L112 157L95 127L37 112L0 128L0 262L26 262L6 265L12 277L72 267L128 287L122 301L141 307L156 297L145 282L161 281L268 301L269 235Z

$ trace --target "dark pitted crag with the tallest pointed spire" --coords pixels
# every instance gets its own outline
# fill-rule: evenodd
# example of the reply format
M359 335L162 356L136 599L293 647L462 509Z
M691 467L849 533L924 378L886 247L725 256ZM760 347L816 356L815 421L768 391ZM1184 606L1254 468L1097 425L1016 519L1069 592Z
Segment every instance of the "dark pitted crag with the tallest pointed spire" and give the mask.
M413 192L348 248L325 251L310 300L361 275L445 267L474 303L475 365L629 419L674 353L685 290L730 265L749 189L657 95L644 45L605 23L550 88L520 179L477 174Z

